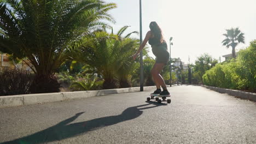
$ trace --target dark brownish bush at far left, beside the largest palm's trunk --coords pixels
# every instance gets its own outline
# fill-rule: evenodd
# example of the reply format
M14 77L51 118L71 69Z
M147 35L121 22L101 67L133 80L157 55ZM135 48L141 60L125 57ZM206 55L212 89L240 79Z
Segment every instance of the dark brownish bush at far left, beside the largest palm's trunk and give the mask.
M33 74L20 69L7 69L0 71L0 96L29 94Z

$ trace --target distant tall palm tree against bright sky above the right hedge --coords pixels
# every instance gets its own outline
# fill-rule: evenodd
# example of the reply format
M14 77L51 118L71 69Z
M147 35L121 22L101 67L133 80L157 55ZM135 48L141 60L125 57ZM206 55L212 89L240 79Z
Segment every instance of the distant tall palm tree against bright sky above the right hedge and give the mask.
M238 28L226 29L225 35L226 39L222 41L223 45L229 48L232 47L232 57L236 58L235 48L239 43L245 44L244 33L242 33Z

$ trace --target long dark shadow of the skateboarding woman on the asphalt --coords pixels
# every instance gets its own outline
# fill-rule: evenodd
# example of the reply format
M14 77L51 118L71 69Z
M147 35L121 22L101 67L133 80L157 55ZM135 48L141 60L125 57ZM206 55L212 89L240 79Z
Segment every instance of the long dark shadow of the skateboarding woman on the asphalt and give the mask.
M153 103L129 107L126 110L124 110L120 115L116 115L116 116L101 117L101 118L91 119L90 121L71 123L84 113L84 112L80 112L75 114L73 117L68 118L54 125L53 127L44 129L32 135L21 137L20 139L7 141L0 144L45 143L45 142L63 140L69 137L85 134L88 131L100 129L100 128L103 128L109 125L114 125L124 121L129 121L131 119L141 116L143 113L143 111L141 110L151 109L154 107L165 105L165 104L154 104L153 106L148 106L150 104L153 104ZM143 106L148 106L148 107L143 107Z

